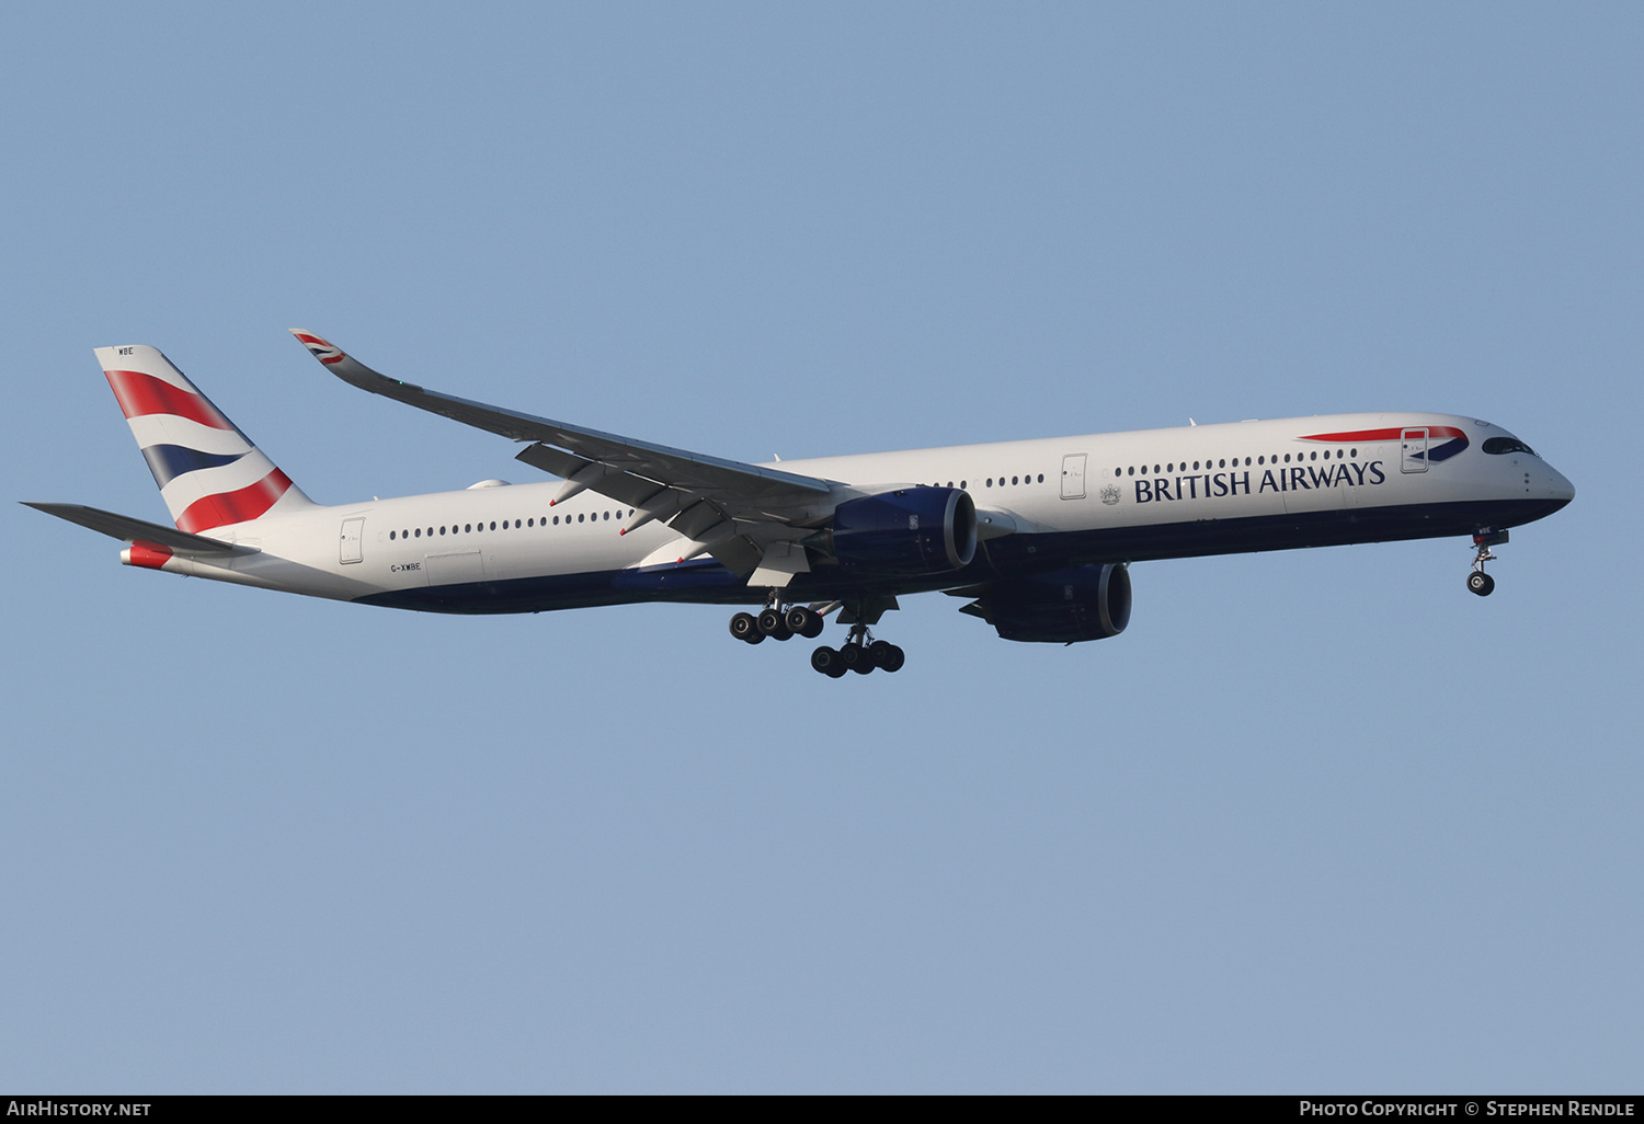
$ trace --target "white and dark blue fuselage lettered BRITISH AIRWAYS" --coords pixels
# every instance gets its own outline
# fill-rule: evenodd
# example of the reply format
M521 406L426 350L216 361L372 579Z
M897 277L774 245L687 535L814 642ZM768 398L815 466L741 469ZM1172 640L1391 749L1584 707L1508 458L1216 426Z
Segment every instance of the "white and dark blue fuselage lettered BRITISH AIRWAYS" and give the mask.
M1458 452L1447 437L1457 432ZM1527 450L1485 452L1491 437L1511 434L1448 414L1335 414L771 467L861 495L965 488L983 524L977 557L963 570L884 583L914 592L1031 567L1470 534L1539 519L1573 496L1570 481ZM684 541L663 523L620 534L631 509L593 491L552 504L559 488L477 485L271 513L206 532L255 554L171 557L155 569L469 613L764 598L709 557L681 562ZM837 597L838 583L837 569L819 565L792 592Z

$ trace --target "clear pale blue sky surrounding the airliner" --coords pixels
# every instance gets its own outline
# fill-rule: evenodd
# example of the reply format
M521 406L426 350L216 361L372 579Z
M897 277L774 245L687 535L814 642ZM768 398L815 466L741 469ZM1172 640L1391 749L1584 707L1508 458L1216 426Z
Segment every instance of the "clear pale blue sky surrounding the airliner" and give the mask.
M12 500L163 519L90 348L319 501L528 478L388 373L727 457L1438 409L1577 501L939 595L460 620L10 504L0 1085L1636 1091L1636 5L12 5ZM1596 426L1596 429L1595 429Z

